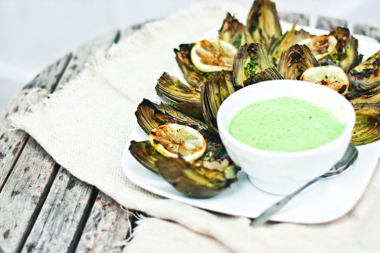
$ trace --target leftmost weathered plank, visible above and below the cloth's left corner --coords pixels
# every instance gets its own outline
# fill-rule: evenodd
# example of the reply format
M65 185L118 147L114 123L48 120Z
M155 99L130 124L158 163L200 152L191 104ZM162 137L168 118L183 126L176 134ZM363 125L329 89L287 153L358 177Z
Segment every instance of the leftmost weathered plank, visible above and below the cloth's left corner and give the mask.
M31 104L36 104L45 98L57 85L71 56L71 54L63 56L38 74L13 98L5 114L0 118L0 191L29 136L21 130L9 131L8 116L24 112Z

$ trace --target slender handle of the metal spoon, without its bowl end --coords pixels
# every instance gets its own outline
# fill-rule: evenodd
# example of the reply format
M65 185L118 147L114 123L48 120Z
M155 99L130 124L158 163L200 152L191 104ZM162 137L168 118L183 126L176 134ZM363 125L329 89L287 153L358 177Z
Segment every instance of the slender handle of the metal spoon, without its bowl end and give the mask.
M320 180L322 177L317 177L313 179L312 181L308 181L306 184L301 186L299 189L294 191L293 193L285 196L280 201L274 203L273 205L269 206L261 215L256 217L251 221L251 227L256 227L259 225L264 224L274 213L276 213L278 210L280 210L287 202L289 202L290 199L293 199L294 196L299 194L301 191L303 191L306 187L309 185L315 183L316 181Z

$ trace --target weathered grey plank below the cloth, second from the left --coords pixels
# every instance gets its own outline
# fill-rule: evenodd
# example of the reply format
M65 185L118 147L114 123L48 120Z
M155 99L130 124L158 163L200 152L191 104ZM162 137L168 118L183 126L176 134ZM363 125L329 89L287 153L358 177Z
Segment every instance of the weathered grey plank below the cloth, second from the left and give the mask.
M56 171L54 160L30 138L0 193L0 245L4 252L16 252L23 244Z

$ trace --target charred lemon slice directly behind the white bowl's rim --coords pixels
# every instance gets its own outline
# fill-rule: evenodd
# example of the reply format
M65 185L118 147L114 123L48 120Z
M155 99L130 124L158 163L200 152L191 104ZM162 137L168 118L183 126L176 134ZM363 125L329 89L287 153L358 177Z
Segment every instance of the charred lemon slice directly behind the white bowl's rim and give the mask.
M344 94L349 87L346 73L340 67L333 65L308 68L300 80L325 85L340 94Z

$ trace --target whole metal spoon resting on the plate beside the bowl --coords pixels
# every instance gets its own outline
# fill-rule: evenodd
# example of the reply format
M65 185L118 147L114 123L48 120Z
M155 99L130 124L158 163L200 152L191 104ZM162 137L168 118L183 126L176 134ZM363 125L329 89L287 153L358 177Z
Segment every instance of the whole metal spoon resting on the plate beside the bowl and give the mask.
M251 221L251 227L256 227L256 226L259 226L261 224L264 224L274 213L276 213L283 206L285 206L285 204L287 202L289 202L290 199L293 199L294 196L299 194L301 191L303 191L309 185L315 183L316 181L318 181L320 179L331 177L331 176L338 175L338 174L342 173L348 167L350 167L352 165L352 163L355 162L357 157L358 157L358 149L356 149L355 146L348 146L348 148L347 148L346 152L344 153L342 159L338 163L336 163L328 172L326 172L325 174L323 174L320 177L313 179L312 181L307 182L298 190L296 190L293 193L285 196L283 199L281 199L277 203L274 203L273 205L271 205L263 213L261 213L261 215L259 215L258 217L256 217L255 219L253 219Z

